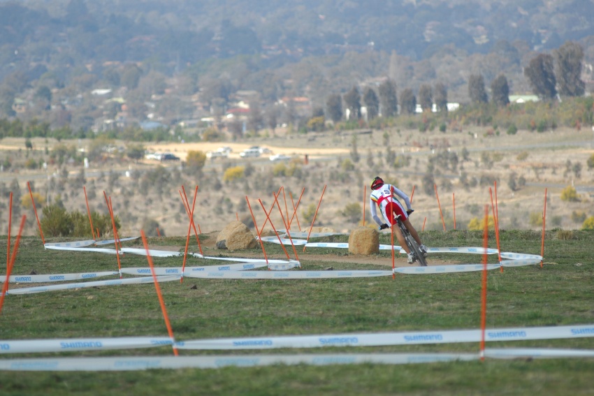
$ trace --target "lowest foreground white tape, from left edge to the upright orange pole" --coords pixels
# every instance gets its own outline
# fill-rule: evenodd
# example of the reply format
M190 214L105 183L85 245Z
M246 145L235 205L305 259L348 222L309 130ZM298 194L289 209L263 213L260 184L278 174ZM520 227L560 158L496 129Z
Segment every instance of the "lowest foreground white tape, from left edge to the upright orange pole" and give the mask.
M270 365L356 365L477 360L477 353L365 353L333 355L254 356L147 356L140 358L39 358L0 360L0 370L11 371L126 371L145 369L217 369Z

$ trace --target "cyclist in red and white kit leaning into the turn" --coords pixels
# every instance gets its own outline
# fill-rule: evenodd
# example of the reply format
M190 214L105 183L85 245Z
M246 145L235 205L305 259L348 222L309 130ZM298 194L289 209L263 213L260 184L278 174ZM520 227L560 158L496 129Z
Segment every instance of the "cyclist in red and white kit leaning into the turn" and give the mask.
M400 203L396 196L402 198L406 204L407 209L405 210L403 205ZM384 180L376 176L373 181L371 182L371 195L370 195L370 207L371 207L371 217L373 220L379 225L380 230L385 230L389 228L391 225L396 224L396 216L400 214L400 219L402 219L404 225L406 226L407 230L410 232L410 235L414 238L417 244L419 244L419 249L421 249L421 253L423 256L427 255L427 247L421 243L421 238L419 237L419 233L416 232L410 220L408 219L408 215L413 212L412 207L410 206L410 199L408 196L400 191L396 186L392 184L385 184ZM384 219L388 223L384 223L382 220L379 219L377 216L377 206L379 206L379 210L382 212ZM396 231L396 238L398 238L398 242L400 246L406 251L408 256L408 263L412 264L414 259L408 248L406 241L404 239L403 234L400 232L400 228L394 227Z

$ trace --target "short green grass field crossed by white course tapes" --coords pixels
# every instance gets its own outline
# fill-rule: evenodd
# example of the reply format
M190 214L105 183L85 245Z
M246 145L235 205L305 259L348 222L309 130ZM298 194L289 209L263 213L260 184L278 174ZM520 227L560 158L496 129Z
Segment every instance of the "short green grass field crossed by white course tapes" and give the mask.
M479 247L481 233L428 231L430 247ZM382 236L380 243L389 243ZM342 242L347 236L320 239ZM57 241L46 241L57 242ZM185 238L153 238L154 249ZM487 328L594 323L594 262L591 231L546 233L544 267L488 272ZM540 254L541 235L502 230L502 251ZM138 246L128 243L128 246ZM0 242L6 252L6 237ZM490 247L495 247L491 237ZM197 251L196 243L191 249ZM282 258L282 250L267 245ZM249 252L257 254L258 250ZM217 255L210 249L205 254ZM228 253L231 255L231 253ZM236 256L242 254L237 253ZM381 269L361 256L345 263L344 249L307 249L306 270ZM389 256L384 251L380 256ZM495 256L489 257L495 263ZM196 263L187 265L204 265ZM352 260L349 260L352 261ZM432 255L438 263L480 263L475 255ZM180 266L180 258L155 258L158 266ZM126 254L122 267L145 267L142 256ZM44 250L35 237L22 240L13 274L58 274L117 269L115 256ZM196 288L191 286L196 285ZM15 285L14 288L30 286ZM185 279L161 284L178 341L214 337L315 335L348 332L475 329L480 325L479 272L403 275L333 280ZM0 316L0 339L126 337L167 335L151 284L106 286L12 295ZM491 342L491 348L594 349L594 339ZM271 350L271 353L477 353L479 345L429 344L365 348ZM234 351L254 354L253 351ZM171 355L171 347L61 353L61 356ZM229 354L180 351L181 355ZM32 358L57 354L3 355ZM0 372L1 395L591 395L593 359L486 360L419 365L276 365L260 368L148 370L144 372Z

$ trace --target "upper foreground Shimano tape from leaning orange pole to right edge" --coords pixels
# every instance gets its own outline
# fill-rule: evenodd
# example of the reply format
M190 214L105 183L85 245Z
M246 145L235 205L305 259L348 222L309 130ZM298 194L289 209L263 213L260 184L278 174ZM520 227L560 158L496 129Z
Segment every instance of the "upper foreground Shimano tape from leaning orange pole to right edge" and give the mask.
M502 328L485 331L485 341L520 341L594 337L594 325L546 328ZM178 349L275 349L323 346L393 346L479 342L481 330L436 330L375 334L296 335L285 337L197 339L177 342Z

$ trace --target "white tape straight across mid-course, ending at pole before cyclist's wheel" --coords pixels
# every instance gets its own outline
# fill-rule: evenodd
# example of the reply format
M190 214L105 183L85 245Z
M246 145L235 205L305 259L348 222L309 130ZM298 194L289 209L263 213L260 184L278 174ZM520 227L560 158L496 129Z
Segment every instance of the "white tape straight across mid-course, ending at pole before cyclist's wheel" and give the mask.
M330 279L386 277L391 271L219 271L184 273L184 277L214 279Z

